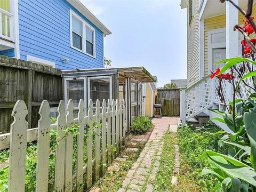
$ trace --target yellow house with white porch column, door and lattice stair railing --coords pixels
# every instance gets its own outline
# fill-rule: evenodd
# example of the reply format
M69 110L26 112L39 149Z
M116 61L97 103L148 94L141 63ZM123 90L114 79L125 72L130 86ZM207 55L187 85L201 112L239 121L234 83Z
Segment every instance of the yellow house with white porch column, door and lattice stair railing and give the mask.
M247 9L247 1L233 2ZM209 108L223 109L223 103L215 93L218 82L211 81L209 74L210 70L222 67L213 63L242 55L241 41L244 37L233 28L237 24L242 26L244 17L230 2L220 3L218 0L181 0L181 9L187 9L188 88L181 91L181 121L185 123L201 112L210 118L216 116L207 110ZM230 87L225 85L223 89L229 100Z

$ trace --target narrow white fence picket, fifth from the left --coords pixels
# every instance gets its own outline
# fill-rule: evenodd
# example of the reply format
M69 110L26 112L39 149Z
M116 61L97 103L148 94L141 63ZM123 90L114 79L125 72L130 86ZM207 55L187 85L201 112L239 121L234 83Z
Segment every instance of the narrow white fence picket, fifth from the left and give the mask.
M76 190L83 191L83 163L84 163L84 100L80 99L78 104L78 134L77 134L77 156L76 156Z

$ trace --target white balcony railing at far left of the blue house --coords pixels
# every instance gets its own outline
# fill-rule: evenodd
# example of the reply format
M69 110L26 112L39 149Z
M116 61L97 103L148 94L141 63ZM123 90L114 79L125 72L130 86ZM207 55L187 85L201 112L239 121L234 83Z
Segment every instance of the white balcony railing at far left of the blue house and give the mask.
M0 21L0 37L13 42L13 14L3 9L0 9Z

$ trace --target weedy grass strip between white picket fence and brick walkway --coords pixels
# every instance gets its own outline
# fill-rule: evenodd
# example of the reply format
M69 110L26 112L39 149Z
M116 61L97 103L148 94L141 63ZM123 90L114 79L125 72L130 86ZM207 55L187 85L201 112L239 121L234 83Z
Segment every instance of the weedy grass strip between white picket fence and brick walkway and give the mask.
M122 151L122 155L127 155L128 158L125 162L121 162L118 166L120 171L114 173L106 173L101 179L95 183L95 187L99 187L100 191L117 191L122 187L122 182L126 177L127 172L132 168L132 165L137 161L142 149L144 148L145 143L138 143L138 151L135 153L125 153Z

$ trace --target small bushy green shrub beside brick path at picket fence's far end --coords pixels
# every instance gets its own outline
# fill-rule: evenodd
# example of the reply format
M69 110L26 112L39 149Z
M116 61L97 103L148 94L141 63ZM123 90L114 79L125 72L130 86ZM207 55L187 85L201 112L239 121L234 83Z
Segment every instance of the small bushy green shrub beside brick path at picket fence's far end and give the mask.
M151 122L151 120L146 116L140 115L133 120L131 126L131 133L143 134L152 128L153 123Z

